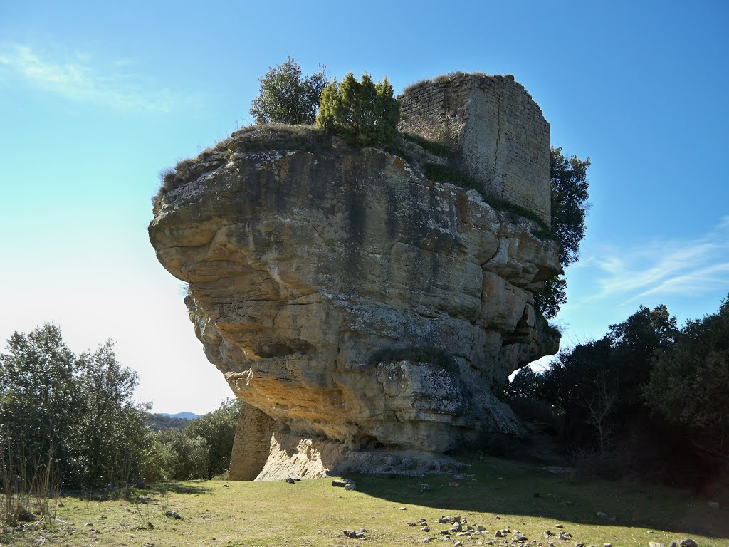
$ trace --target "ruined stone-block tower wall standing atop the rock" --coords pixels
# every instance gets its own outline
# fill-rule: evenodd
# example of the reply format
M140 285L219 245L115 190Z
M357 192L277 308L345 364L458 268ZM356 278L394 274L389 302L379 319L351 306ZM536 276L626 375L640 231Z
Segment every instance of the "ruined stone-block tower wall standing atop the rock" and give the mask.
M446 144L487 195L550 224L550 128L512 76L453 74L399 97L399 130Z

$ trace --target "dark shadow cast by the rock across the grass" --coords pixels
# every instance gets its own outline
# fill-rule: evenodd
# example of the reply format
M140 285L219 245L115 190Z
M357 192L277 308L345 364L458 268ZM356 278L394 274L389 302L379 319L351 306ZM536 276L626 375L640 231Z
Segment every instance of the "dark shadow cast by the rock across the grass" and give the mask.
M350 478L356 481L359 492L440 511L523 515L589 526L642 527L729 538L725 509L709 508L707 500L685 490L575 479L552 473L544 465L489 457L464 462L471 467L456 475ZM421 490L421 483L430 489ZM615 516L615 521L599 518L598 512Z

